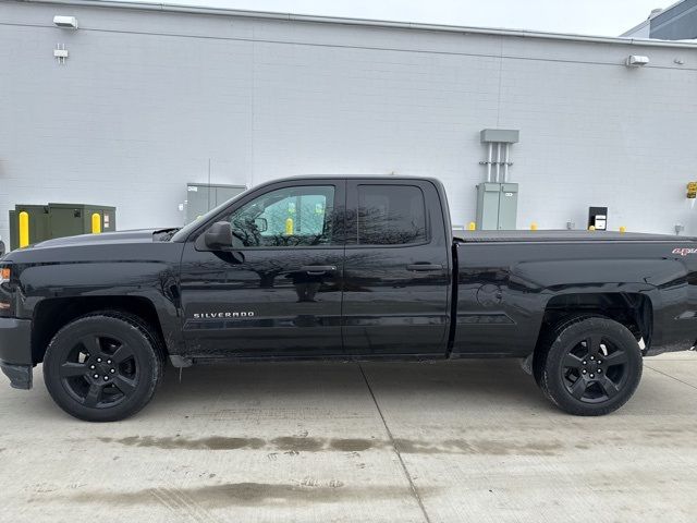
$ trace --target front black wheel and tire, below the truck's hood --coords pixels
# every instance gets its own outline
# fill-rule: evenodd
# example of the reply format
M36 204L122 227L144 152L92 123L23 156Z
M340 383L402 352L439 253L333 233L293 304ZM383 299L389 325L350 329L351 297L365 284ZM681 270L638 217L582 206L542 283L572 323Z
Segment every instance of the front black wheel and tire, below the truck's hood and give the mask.
M115 422L152 399L163 354L157 335L137 316L94 313L53 337L44 356L44 381L53 401L72 416Z

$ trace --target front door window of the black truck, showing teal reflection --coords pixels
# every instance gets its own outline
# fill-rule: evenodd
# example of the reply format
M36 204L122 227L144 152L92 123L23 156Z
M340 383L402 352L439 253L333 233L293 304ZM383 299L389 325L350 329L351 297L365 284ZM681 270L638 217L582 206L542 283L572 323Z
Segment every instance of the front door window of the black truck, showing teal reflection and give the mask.
M262 194L232 212L232 232L247 247L332 243L334 187L284 187Z

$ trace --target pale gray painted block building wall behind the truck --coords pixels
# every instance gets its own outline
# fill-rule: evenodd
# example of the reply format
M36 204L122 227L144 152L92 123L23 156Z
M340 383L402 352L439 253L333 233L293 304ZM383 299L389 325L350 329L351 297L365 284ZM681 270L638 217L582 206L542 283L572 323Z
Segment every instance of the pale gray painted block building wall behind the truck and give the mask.
M49 200L117 206L120 229L181 224L209 160L229 184L435 175L464 224L485 127L521 130L519 227L582 228L594 205L611 229L697 234L695 93L695 47L4 2L0 234L15 203Z

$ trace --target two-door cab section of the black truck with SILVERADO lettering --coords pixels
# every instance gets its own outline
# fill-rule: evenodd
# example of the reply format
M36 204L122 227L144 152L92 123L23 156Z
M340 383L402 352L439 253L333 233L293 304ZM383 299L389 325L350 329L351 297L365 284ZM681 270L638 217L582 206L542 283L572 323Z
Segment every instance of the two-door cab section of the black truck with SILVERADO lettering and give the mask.
M438 190L429 180L283 181L212 218L230 223L230 248L207 243L205 228L178 232L189 353L444 357L452 239Z

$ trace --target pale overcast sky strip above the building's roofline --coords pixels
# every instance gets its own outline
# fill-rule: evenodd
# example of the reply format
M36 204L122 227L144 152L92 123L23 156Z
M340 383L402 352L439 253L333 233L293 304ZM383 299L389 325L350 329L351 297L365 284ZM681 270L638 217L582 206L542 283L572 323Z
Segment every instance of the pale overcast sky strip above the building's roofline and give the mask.
M675 0L144 0L474 27L619 36Z

